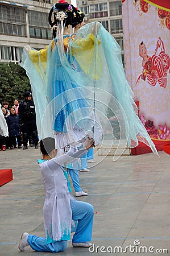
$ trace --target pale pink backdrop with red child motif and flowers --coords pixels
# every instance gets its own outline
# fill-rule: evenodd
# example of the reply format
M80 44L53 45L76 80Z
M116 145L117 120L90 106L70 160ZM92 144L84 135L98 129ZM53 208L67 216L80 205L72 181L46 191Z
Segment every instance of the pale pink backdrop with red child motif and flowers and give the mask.
M170 139L170 0L122 0L126 77L153 139Z

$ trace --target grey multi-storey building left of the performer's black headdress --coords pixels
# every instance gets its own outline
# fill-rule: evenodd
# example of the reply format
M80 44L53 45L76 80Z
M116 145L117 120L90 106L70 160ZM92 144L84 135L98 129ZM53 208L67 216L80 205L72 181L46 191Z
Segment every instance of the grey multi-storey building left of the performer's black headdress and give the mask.
M0 0L0 61L19 63L23 47L44 48L52 39L51 0Z

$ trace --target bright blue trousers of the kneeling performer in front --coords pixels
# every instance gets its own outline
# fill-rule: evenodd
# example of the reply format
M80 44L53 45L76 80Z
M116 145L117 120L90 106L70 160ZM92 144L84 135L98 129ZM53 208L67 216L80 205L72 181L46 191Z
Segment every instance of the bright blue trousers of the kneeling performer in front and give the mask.
M78 221L76 232L72 242L87 242L92 240L94 208L91 204L71 200L72 219ZM46 242L45 237L36 237L28 235L29 245L36 251L49 251L58 253L64 251L67 247L67 241L56 241L55 243Z

